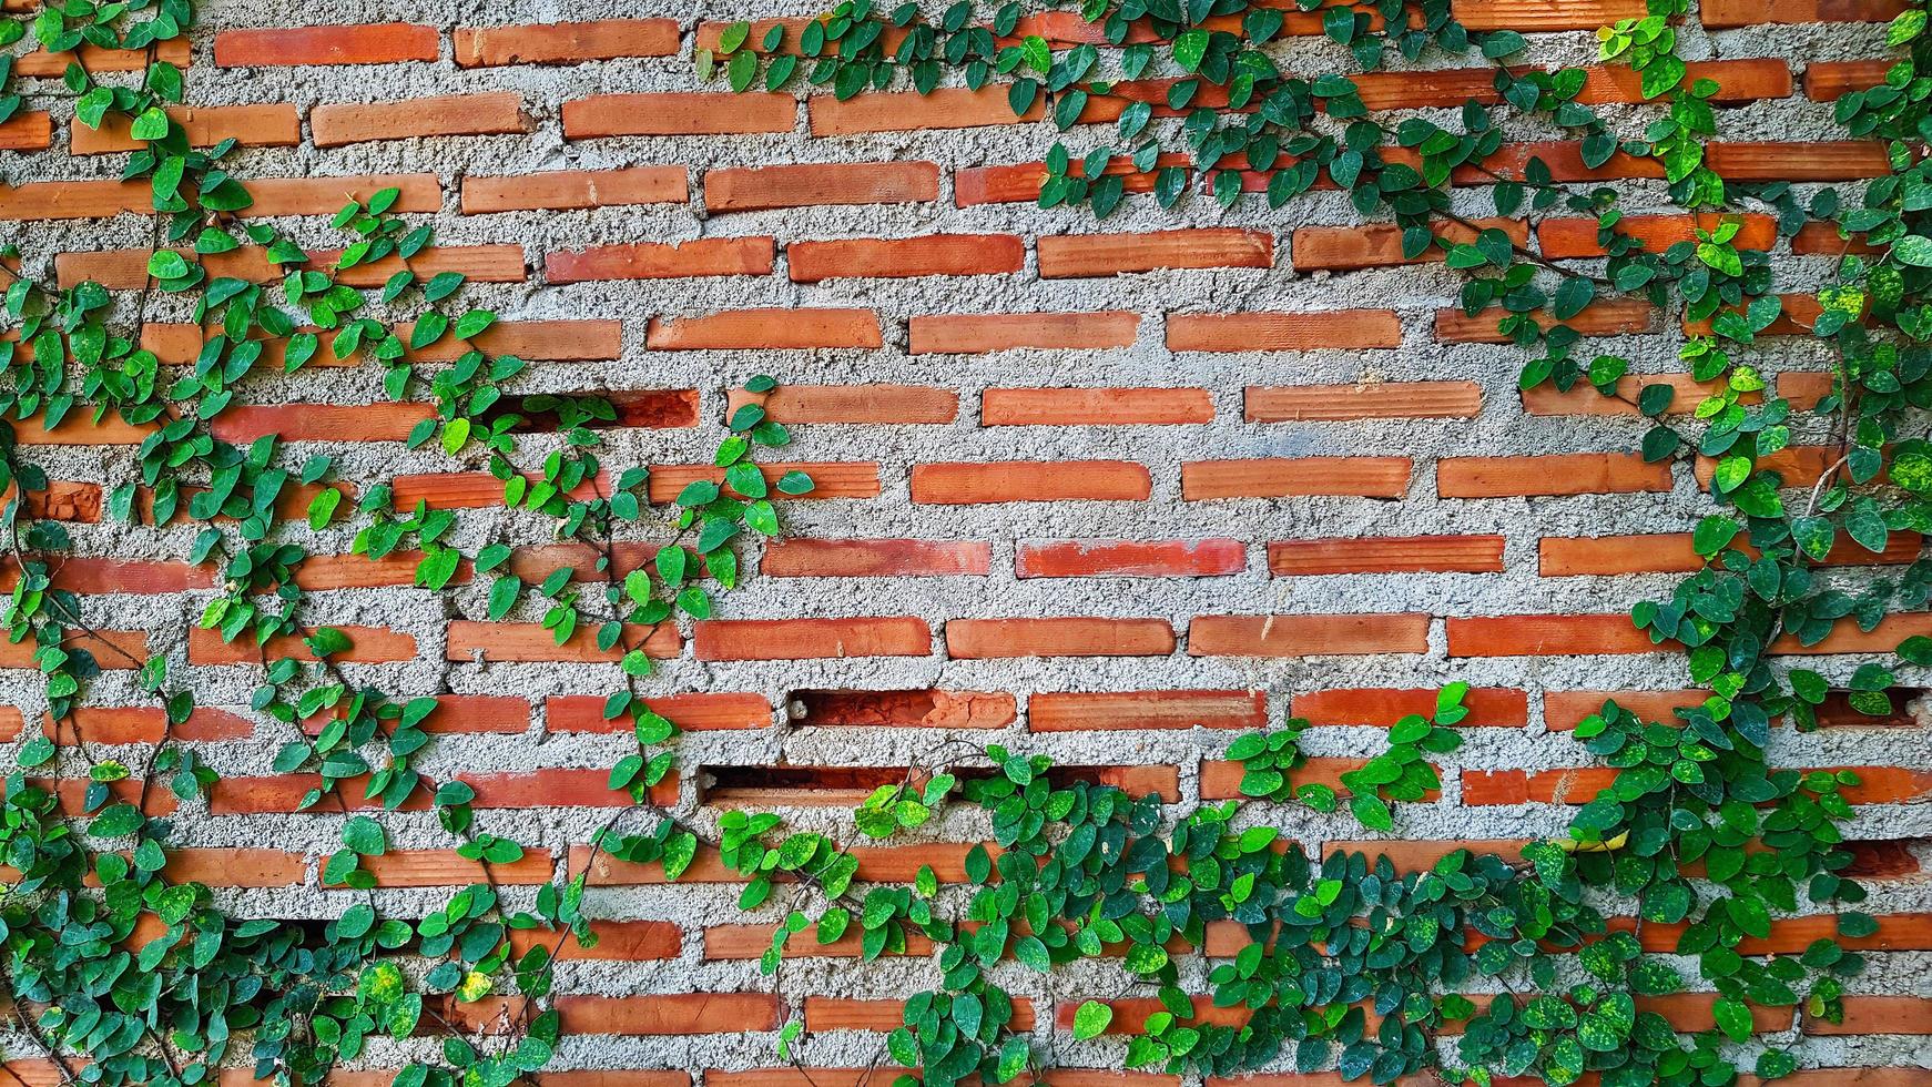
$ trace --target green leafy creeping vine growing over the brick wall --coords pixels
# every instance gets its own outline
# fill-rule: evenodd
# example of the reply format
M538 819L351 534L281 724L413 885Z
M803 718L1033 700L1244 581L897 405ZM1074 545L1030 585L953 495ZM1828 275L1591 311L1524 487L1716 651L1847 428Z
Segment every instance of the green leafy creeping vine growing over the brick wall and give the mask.
M1066 50L1043 37L1014 39L1020 4L981 21L962 2L927 21L914 6L875 14L858 0L808 21L796 52L781 52L782 27L753 44L740 23L717 54L699 56L701 70L723 70L738 91L759 77L767 89L804 79L840 98L898 81L925 93L949 79L968 87L1001 79L1018 114L1039 104L1061 131L1095 102L1117 102L1113 143L1078 156L1051 147L1043 207L1090 205L1105 216L1126 199L1130 178L1146 178L1163 207L1190 193L1227 207L1250 189L1283 207L1331 181L1364 216L1401 228L1406 259L1434 249L1468 272L1463 309L1499 311L1499 330L1528 355L1524 390L1584 382L1629 400L1652 419L1646 460L1708 465L1714 510L1694 533L1706 566L1671 599L1633 612L1656 643L1687 651L1708 699L1675 722L1644 722L1615 703L1586 718L1577 739L1615 778L1575 813L1561 840L1526 846L1520 861L1459 850L1426 871L1405 871L1360 851L1308 855L1256 822L1287 803L1331 813L1347 797L1362 826L1393 832L1405 803L1441 786L1430 755L1461 741L1466 687L1453 683L1432 718L1395 722L1387 751L1341 774L1341 790L1296 780L1306 722L1238 738L1227 757L1240 765L1242 795L1265 807L1227 801L1173 815L1159 797L1066 778L1043 755L999 745L916 766L854 811L854 840L920 828L949 803L978 809L991 842L966 855L964 906L941 894L931 867L912 886L866 884L850 844L829 834L786 832L777 815L744 811L723 813L709 828L651 799L676 765L676 728L641 697L651 676L645 639L678 616L709 618L715 597L738 583L734 544L779 535L781 496L811 490L804 473L767 483L753 458L786 444L784 427L761 407L740 407L713 461L719 481L688 485L674 512L653 508L645 469L624 467L611 479L597 456L599 427L616 419L607 398L502 392L524 361L475 346L497 315L462 307L460 274L423 280L412 268L435 239L431 228L392 214L396 189L342 209L334 228L344 249L332 266L274 228L238 220L249 195L224 166L232 141L209 151L187 145L168 112L184 100L184 73L153 48L189 31L185 0L99 8L50 0L29 21L0 21L0 44L27 39L31 25L31 41L46 50L83 42L149 50L137 87L97 83L81 64L66 85L81 124L120 118L143 143L126 168L153 191L155 253L139 301L149 292L191 295L207 336L191 367L168 371L141 348L145 305L129 326L116 321L100 284L62 290L19 272L6 290L17 336L0 342L0 367L12 378L0 390L8 496L0 533L17 577L4 622L12 643L33 647L50 716L46 734L21 747L0 809L0 859L12 869L0 890L0 981L12 1025L37 1048L27 1056L52 1060L66 1083L193 1085L230 1064L278 1083L319 1083L359 1060L369 1039L427 1031L440 1039L440 1058L408 1064L398 1073L406 1087L502 1087L551 1064L560 1037L558 1014L545 1008L554 962L564 940L595 942L582 904L589 867L537 888L533 909L504 904L493 869L522 859L524 844L475 830L473 788L425 772L433 738L423 724L435 695L352 682L344 664L354 633L307 616L301 575L313 556L303 541L313 535L303 527L352 525L352 554L415 556L415 583L431 591L446 589L468 564L491 579L489 620L541 614L558 645L589 631L620 662L622 685L603 714L624 722L638 747L611 770L609 786L628 803L595 836L593 861L661 865L678 878L699 848L715 848L746 877L744 909L765 906L781 880L796 884L765 973L777 973L786 946L806 933L831 944L856 925L866 960L904 952L914 934L937 944L937 983L906 1002L904 1025L885 1043L927 1085L1045 1073L1045 1054L1014 1031L1016 1000L995 981L995 965L1016 960L1053 975L1115 952L1124 990L1151 992L1159 1010L1124 1023L1115 1004L1084 1000L1072 1035L1132 1029L1124 1060L1134 1068L1209 1075L1337 1068L1343 1079L1374 1083L1430 1070L1480 1085L1503 1075L1565 1085L1596 1072L1609 1087L1721 1087L1737 1081L1741 1060L1766 1079L1793 1072L1797 1050L1752 1043L1752 1006L1839 1017L1843 979L1864 963L1830 938L1791 958L1737 948L1768 936L1777 915L1830 909L1843 936L1868 934L1874 921L1853 909L1864 892L1843 877L1851 855L1839 844L1853 809L1841 790L1855 778L1766 763L1770 724L1812 726L1832 687L1776 653L1787 643L1816 647L1847 622L1876 631L1932 597L1924 562L1889 577L1820 571L1841 535L1884 552L1891 533L1932 527L1932 446L1918 436L1918 411L1932 396L1924 346L1932 168L1915 153L1928 135L1918 64L1932 39L1924 8L1909 6L1888 35L1901 54L1886 83L1837 104L1855 137L1888 141L1893 172L1859 193L1826 189L1801 207L1789 185L1731 185L1708 166L1718 87L1690 79L1677 56L1675 27L1689 4L1650 8L1648 17L1600 35L1602 60L1629 64L1642 97L1662 106L1640 137L1619 139L1577 100L1580 70L1503 64L1524 48L1522 35L1470 33L1447 0L1320 6L1323 33L1360 71L1424 54L1480 54L1495 62L1495 95L1565 131L1586 166L1617 153L1656 158L1671 201L1712 216L1662 251L1619 230L1613 189L1571 191L1536 158L1520 176L1486 166L1503 135L1484 106L1466 106L1459 131L1416 118L1391 125L1362 102L1354 73L1283 73L1265 46L1283 33L1287 12L1248 0L1090 0L1078 14L1109 44ZM6 95L0 114L21 100ZM1534 220L1555 209L1594 216L1602 268L1544 259L1507 232L1459 216L1449 199L1459 168L1486 174L1499 216ZM1785 236L1830 222L1845 239L1832 286L1816 295L1810 332L1833 353L1833 382L1812 411L1777 396L1750 363L1756 338L1791 315L1774 293L1772 257L1739 245L1729 214L1745 209L1774 212ZM272 284L213 276L201 263L243 245L263 249L276 268ZM379 290L344 282L342 272L388 259L402 270ZM1582 336L1567 322L1609 297L1642 299L1706 328L1681 349L1708 390L1694 407L1675 404L1675 386L1642 376L1629 394L1627 359L1577 353ZM454 363L415 361L437 346L454 348ZM214 434L243 378L274 357L299 371L323 351L379 363L392 400L427 396L417 402L433 415L413 429L410 448L435 446L456 465L487 471L502 485L502 508L547 517L558 541L597 556L593 570L560 568L527 585L512 573L512 539L493 537L475 554L454 543L464 539L454 510L398 508L392 483L352 487L363 481L338 479L325 456L298 463L272 434L247 446ZM753 378L746 388L773 384ZM197 527L189 560L214 571L218 585L199 626L253 645L261 683L251 709L298 736L278 749L274 770L305 774L301 809L344 817L342 848L327 857L323 882L373 888L365 861L388 850L383 813L421 801L454 850L479 863L483 882L427 917L384 917L363 896L327 925L290 925L230 917L207 886L168 878L174 826L151 803L155 788L193 801L218 780L174 739L195 711L193 691L170 676L164 656L135 656L95 631L83 600L58 585L68 533L33 514L50 483L15 434L70 417L147 429L139 471L114 485L108 512ZM562 436L558 448L537 456L520 446L531 417ZM1822 442L1822 467L1804 487L1787 475L1793 440ZM286 516L292 506L301 514ZM612 541L634 525L668 527L676 539L647 568L620 571ZM108 664L139 668L141 689L166 720L164 736L128 761L99 757L79 730L71 741L62 730L102 656L116 655L124 660ZM1905 639L1897 655L1932 664L1932 639ZM1893 682L1891 666L1862 664L1849 680L1853 705L1889 712ZM305 722L317 726L313 736ZM79 801L64 799L56 782L81 776ZM1625 917L1629 925L1619 923ZM1716 1029L1679 1033L1644 1006L1692 985L1644 952L1644 925L1683 925L1675 950L1696 960L1696 981L1714 990ZM516 952L512 933L531 931L545 938ZM1229 934L1233 952L1219 944ZM1182 960L1204 954L1208 992L1188 992ZM510 1029L483 1035L458 1025L460 1006L502 994L524 998L506 1012L516 1019ZM1453 1048L1441 1041L1451 1023L1461 1025ZM781 1031L786 1060L800 1033L798 1021Z

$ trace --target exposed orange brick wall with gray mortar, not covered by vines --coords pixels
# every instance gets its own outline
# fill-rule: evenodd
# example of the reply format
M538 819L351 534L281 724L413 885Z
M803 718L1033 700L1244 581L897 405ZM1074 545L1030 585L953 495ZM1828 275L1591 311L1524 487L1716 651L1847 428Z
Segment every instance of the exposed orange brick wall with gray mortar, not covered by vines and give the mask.
M605 461L653 465L661 500L723 434L728 388L755 373L782 382L767 407L794 425L784 458L810 465L819 494L788 504L792 535L748 556L757 577L724 599L721 620L653 643L665 656L653 705L690 730L678 803L694 819L773 805L800 826L846 828L842 809L875 778L985 741L1186 807L1235 795L1238 774L1217 763L1233 730L1314 718L1310 774L1333 780L1379 749L1379 726L1466 680L1476 712L1466 745L1443 761L1441 795L1399 805L1397 834L1374 848L1430 859L1561 830L1600 780L1571 772L1588 759L1563 732L1605 691L1652 714L1683 697L1683 658L1652 653L1625 612L1694 568L1687 531L1706 502L1690 467L1642 463L1646 423L1588 390L1519 394L1520 351L1493 344L1488 317L1449 309L1459 276L1405 265L1395 232L1360 226L1341 193L1229 212L1204 201L1163 212L1130 197L1095 224L1034 207L1032 164L1055 133L1014 122L1003 91L840 104L696 79L694 52L730 19L815 8L216 0L199 12L184 116L197 141L238 137L238 176L259 178L255 212L288 216L317 247L336 245L328 214L346 195L400 185L398 207L437 222L437 266L479 280L466 299L504 317L479 344L535 361L516 392L611 390L624 419L605 434ZM1470 25L1540 31L1536 62L1588 64L1594 29L1642 14L1642 2L1455 10ZM1891 14L1882 0L1706 2L1685 33L1723 85L1719 172L1806 185L1884 172L1882 149L1837 141L1830 98L1882 77L1878 19ZM1339 46L1306 37L1312 21L1294 19L1304 37L1281 48L1287 66L1349 68ZM309 29L276 29L288 25ZM1364 97L1447 118L1488 75L1445 66L1374 75ZM21 71L58 91L60 64ZM1634 100L1627 73L1594 75L1588 95L1640 131L1642 110L1619 106ZM31 108L0 125L12 149L0 158L0 237L31 268L58 266L64 284L106 282L131 313L149 243L135 214L145 187L116 181L131 141L75 125L68 100ZM1094 125L1065 139L1080 154L1109 135ZM1503 156L1549 139L1513 127ZM1667 210L1648 164L1584 172L1573 153L1544 154L1563 180L1602 178L1633 210ZM1459 201L1493 214L1482 187ZM1557 259L1594 247L1594 224L1561 214L1513 230ZM1669 239L1685 222L1642 230ZM1768 218L1747 232L1774 236ZM1837 241L1804 234L1785 249L1791 280L1779 286L1803 290L1828 272ZM182 324L185 309L168 297L149 307L149 346L191 357L199 332ZM1580 326L1640 371L1681 371L1677 315L1605 303ZM1820 351L1779 336L1764 353L1781 388L1818 396ZM440 452L404 450L431 407L386 402L371 365L261 376L245 396L257 407L232 411L224 436L282 432L338 456L346 479L396 475L412 504L481 506L462 519L469 550L508 517L531 541L516 558L526 577L587 566L541 546L541 519L489 508L495 483L450 471ZM193 850L178 871L255 915L340 913L348 892L323 890L317 869L342 817L292 811L303 788L269 768L284 736L245 709L259 668L191 631L209 577L185 564L193 531L116 525L100 510L100 485L126 477L139 432L73 421L21 436L44 442L31 454L62 481L52 514L87 556L62 579L93 593L91 622L189 664L201 703L232 707L197 712L184 732L224 778L209 811L182 811ZM1822 463L1804 448L1789 458L1797 477ZM352 676L398 695L452 691L435 718L446 734L435 772L477 786L481 830L531 848L498 878L535 884L582 865L618 799L605 770L634 747L599 718L614 664L587 637L554 647L533 610L477 622L487 579L433 595L410 587L408 564L348 556L348 531L311 546L340 554L309 568L311 614L355 635ZM1917 541L1886 558L1915 552ZM1905 633L1932 633L1932 618L1835 635L1808 664L1843 680L1855 653ZM0 647L10 738L37 732L44 711L25 664ZM95 743L158 732L158 711L128 674L97 682L89 701L79 726ZM1853 983L1845 1025L1762 1029L1826 1035L1806 1052L1828 1066L1891 1070L1862 1083L1924 1081L1926 716L1915 705L1886 722L1845 712L1808 736L1779 730L1776 759L1866 774L1855 799L1868 807L1851 834L1884 917L1861 942L1886 954ZM1364 838L1345 815L1256 805L1248 819L1310 846ZM369 861L383 907L425 909L477 878L433 815L388 824L402 850ZM910 878L933 863L958 880L962 842L985 826L956 813L922 834L933 842L860 850L862 878ZM896 1023L895 1000L935 977L922 956L862 965L854 940L804 948L779 983L761 979L755 956L784 896L746 917L715 857L697 875L674 888L624 865L593 875L607 938L562 971L574 1037L560 1066L668 1070L622 1077L651 1087L686 1073L707 1087L788 1083L792 1073L744 1073L777 1064L771 1031L802 1012L808 1064L862 1068L881 1052L877 1027ZM1766 950L1803 950L1814 929L1781 921ZM1190 969L1204 977L1204 965ZM1014 985L1032 994L1034 1029L1059 1060L1119 1060L1117 1039L1055 1031L1082 998L1122 990L1113 967L1078 963L1051 987L1014 967ZM1708 1023L1708 998L1663 1004L1681 1023ZM392 1050L367 1056L373 1068L396 1062Z

